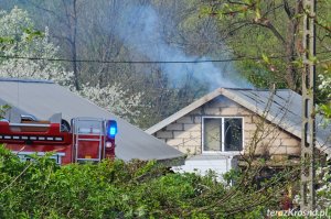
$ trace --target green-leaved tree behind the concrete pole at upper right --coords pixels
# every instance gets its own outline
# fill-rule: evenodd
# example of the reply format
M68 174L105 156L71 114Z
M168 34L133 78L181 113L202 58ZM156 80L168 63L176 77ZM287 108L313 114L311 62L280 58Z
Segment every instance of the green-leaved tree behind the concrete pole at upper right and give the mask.
M300 91L302 53L300 23L305 12L301 0L205 2L207 7L204 12L220 19L220 31L226 33L225 41L234 55L247 58L237 66L249 81L257 87L276 84L277 87ZM330 17L328 15L331 9L330 1L320 1L318 6L317 17L325 23ZM318 25L318 47L325 47L331 41L330 32ZM323 56L325 54L319 55ZM264 58L252 61L250 57Z

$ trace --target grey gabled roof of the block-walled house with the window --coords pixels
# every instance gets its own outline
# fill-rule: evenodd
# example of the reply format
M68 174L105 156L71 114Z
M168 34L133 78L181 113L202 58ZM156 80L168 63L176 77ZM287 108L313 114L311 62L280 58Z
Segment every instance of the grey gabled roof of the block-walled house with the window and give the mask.
M302 97L290 89L277 89L275 91L270 91L257 89L218 88L189 105L188 107L181 109L174 114L168 117L161 122L154 124L153 127L147 129L146 132L153 134L218 96L224 96L233 100L252 112L266 118L269 122L278 125L285 131L301 139ZM317 123L319 124L321 121L322 118L318 116ZM331 154L330 135L331 125L328 125L327 128L317 125L317 146L327 154Z

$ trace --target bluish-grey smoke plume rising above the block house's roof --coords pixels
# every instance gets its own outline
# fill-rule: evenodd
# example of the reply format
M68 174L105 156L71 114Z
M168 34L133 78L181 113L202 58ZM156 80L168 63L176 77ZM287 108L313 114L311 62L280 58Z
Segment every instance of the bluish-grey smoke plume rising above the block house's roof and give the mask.
M143 54L153 62L209 59L207 57L188 56L182 50L169 45L162 34L161 22L167 21L162 21L151 7L128 7L121 12L115 31L130 50ZM248 83L242 79L238 80L238 76L229 63L217 64L217 67L213 63L160 64L160 67L173 81L180 81L186 74L191 74L196 79L207 83L210 89L217 87L250 87Z

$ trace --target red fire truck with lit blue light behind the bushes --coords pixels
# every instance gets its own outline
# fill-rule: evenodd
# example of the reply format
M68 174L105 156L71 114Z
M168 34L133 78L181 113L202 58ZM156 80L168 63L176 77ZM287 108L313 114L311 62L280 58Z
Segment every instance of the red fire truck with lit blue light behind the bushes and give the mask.
M32 116L20 116L19 120L0 120L0 143L22 161L30 160L30 154L42 156L46 152L53 152L51 158L60 165L115 157L115 120L74 118L70 124L61 113L49 121Z

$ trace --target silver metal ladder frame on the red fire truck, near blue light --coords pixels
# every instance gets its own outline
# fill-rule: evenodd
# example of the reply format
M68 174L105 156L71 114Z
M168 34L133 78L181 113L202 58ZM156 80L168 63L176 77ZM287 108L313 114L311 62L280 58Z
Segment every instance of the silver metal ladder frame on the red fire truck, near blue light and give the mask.
M105 122L103 119L95 118L74 118L72 120L73 140L74 140L74 161L83 163L86 161L100 162L104 154L104 133ZM97 142L97 157L79 157L82 142Z

